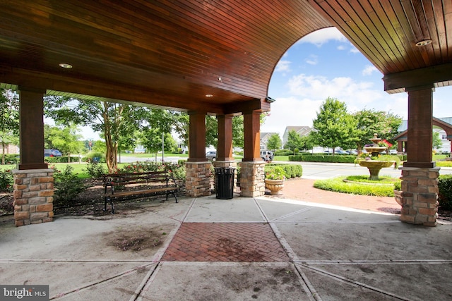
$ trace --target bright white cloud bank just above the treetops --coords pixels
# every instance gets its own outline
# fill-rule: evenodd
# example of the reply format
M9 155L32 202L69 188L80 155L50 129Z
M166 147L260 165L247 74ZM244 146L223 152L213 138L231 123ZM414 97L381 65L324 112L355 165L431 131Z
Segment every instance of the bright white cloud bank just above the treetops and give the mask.
M408 116L406 93L387 94L382 87L375 87L373 82L300 74L292 76L285 87L288 89L275 91L276 102L271 104L270 116L266 118L261 131L280 133L282 136L286 126L312 126L312 120L327 97L345 102L350 113L375 109L391 111L404 119ZM290 96L278 97L278 93L288 93Z

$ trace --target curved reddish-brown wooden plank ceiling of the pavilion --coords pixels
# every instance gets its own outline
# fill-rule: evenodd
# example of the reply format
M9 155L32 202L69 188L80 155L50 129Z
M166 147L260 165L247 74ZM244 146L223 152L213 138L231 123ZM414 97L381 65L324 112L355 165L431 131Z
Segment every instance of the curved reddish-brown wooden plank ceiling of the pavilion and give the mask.
M16 0L0 11L0 87L186 111L269 109L280 57L329 26L384 75L452 63L452 1Z

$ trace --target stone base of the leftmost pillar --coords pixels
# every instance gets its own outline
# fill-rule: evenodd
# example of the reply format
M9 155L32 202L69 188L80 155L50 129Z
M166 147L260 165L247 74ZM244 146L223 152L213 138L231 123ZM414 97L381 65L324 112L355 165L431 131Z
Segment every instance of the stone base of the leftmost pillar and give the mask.
M13 170L16 226L53 221L54 170Z

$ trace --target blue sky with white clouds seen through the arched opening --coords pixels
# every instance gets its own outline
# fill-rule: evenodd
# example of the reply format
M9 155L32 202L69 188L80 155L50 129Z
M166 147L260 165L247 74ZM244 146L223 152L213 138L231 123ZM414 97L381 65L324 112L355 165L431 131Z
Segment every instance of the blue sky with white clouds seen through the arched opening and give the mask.
M352 113L362 109L391 111L408 118L408 94L383 91L383 74L335 27L303 37L281 57L268 87L270 116L263 133L283 137L286 126L308 125L321 103L333 97ZM433 93L435 117L452 117L452 87Z

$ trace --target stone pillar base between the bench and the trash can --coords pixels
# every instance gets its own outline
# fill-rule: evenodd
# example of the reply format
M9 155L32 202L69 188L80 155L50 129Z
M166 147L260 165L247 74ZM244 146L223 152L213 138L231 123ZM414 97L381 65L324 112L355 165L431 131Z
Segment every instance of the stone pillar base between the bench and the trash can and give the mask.
M190 162L185 163L185 188L189 197L207 197L210 192L210 162Z

